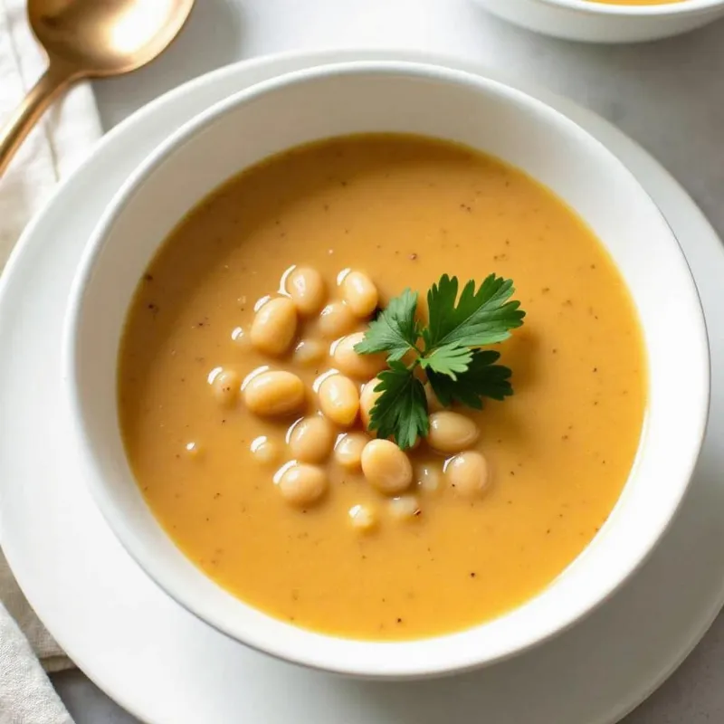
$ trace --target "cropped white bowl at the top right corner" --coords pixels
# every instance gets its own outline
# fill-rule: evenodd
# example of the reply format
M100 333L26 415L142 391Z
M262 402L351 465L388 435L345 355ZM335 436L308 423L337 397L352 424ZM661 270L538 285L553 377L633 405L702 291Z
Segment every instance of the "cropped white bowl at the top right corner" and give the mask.
M476 0L537 33L589 43L640 43L687 33L724 16L724 0L608 5L590 0Z

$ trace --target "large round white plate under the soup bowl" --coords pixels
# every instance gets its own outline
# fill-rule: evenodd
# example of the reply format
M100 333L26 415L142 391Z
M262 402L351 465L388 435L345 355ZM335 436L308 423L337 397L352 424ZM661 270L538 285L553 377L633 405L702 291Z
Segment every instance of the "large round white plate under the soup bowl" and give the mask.
M319 52L215 71L138 111L101 141L24 234L0 290L0 529L28 599L101 689L160 724L612 724L700 640L724 603L724 375L698 473L662 545L633 580L557 639L482 672L443 681L349 681L273 661L201 623L164 595L113 538L79 480L60 391L62 316L81 248L130 170L215 100L320 62L395 58L470 64L416 52ZM488 73L490 75L490 73ZM497 74L496 74L497 75ZM500 80L500 79L499 79ZM508 80L510 82L510 79ZM651 157L591 113L522 87L576 119L622 157L684 247L724 366L724 253L710 225ZM655 260L652 260L655 273ZM672 330L672 354L676 348ZM686 381L672 395L684 394Z

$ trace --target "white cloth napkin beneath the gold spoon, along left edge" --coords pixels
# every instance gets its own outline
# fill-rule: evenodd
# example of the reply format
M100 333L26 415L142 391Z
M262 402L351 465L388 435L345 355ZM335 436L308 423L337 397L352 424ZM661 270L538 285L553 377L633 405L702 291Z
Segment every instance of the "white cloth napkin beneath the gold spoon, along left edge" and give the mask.
M45 65L24 0L0 0L0 125ZM55 103L25 140L0 177L0 270L25 224L100 133L95 101L85 84ZM33 613L0 553L0 724L71 722L36 657L46 671L72 666Z

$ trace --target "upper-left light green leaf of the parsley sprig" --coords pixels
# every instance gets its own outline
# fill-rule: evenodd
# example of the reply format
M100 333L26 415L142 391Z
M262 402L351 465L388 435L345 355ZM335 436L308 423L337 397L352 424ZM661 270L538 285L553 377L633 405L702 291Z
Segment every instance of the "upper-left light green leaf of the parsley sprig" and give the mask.
M377 319L370 322L365 338L355 345L360 355L388 352L388 359L395 362L415 349L420 337L420 326L414 319L417 310L417 292L406 289L399 297L390 300Z

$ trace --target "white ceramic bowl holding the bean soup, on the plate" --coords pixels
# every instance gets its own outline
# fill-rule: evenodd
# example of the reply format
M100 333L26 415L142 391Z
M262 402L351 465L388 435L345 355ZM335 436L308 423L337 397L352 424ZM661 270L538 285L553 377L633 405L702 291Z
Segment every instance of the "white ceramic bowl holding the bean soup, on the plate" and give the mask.
M311 633L214 584L157 524L129 470L116 400L121 329L160 243L198 201L244 167L314 139L362 131L449 138L504 158L564 198L605 243L643 324L649 405L633 472L604 528L540 595L488 624L405 643ZM672 231L629 171L548 106L495 81L433 66L350 62L263 82L199 115L129 178L93 234L71 291L64 385L90 491L160 586L240 642L291 662L367 677L459 672L574 624L642 563L677 510L709 402L699 298ZM140 614L140 613L139 613Z

